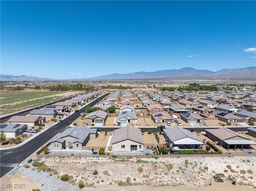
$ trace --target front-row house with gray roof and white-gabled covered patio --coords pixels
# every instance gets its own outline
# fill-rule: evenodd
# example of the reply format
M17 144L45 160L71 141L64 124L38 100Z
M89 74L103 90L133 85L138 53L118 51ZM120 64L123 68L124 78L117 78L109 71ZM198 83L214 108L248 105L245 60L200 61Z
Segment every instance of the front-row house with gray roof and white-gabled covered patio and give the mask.
M190 130L180 127L164 128L164 137L168 140L171 147L178 147L179 149L202 148L204 144L196 135Z

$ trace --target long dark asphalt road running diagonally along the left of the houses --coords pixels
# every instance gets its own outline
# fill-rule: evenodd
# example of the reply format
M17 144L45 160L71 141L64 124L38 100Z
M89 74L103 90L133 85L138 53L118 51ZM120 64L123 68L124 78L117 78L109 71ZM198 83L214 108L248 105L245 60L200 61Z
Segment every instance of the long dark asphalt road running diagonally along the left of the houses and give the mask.
M87 106L94 106L108 94L105 94L89 104L83 107L83 110ZM74 113L70 116L70 118L66 118L63 120L62 123L57 123L56 125L52 126L45 132L42 132L36 138L30 140L26 144L18 147L13 148L10 150L0 150L0 178L2 178L6 173L10 172L14 167L18 166L22 161L28 158L31 154L33 154L36 150L41 148L46 142L48 142L51 138L56 136L56 134L64 131L67 128L66 122L68 120L74 121L78 117L80 117L80 112Z

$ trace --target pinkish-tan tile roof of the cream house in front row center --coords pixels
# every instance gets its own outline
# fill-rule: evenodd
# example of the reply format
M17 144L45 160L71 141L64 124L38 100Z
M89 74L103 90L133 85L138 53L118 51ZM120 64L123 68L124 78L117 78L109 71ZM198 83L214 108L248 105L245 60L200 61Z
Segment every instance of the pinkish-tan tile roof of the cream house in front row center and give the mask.
M140 144L144 144L141 130L140 128L136 127L126 126L115 130L112 144L116 144L125 140L131 140Z

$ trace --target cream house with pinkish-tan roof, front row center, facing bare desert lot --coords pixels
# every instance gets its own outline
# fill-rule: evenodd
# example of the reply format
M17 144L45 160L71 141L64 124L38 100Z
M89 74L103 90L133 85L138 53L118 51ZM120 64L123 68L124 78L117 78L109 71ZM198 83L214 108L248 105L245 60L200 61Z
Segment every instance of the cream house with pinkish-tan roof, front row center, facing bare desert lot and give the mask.
M144 151L144 140L140 128L123 127L115 130L112 151Z

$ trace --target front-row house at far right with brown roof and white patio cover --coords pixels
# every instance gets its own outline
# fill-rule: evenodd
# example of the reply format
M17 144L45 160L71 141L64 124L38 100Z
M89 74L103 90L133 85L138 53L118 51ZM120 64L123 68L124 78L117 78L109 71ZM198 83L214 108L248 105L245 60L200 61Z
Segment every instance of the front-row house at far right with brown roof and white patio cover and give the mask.
M253 142L249 138L225 127L218 129L206 129L206 136L217 145L227 148L228 150L236 148L249 148L250 150L250 145L256 144L256 142Z

